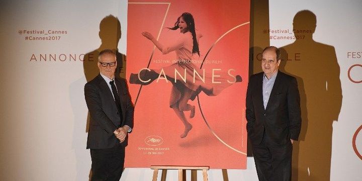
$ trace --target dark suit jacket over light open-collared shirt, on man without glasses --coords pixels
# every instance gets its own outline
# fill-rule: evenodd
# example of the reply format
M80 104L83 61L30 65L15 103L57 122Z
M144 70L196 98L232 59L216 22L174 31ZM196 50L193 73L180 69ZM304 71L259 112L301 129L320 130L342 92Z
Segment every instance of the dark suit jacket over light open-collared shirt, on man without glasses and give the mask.
M264 134L277 145L298 140L302 119L296 78L278 71L264 109L263 74L250 76L246 93L246 129L251 143L260 144Z

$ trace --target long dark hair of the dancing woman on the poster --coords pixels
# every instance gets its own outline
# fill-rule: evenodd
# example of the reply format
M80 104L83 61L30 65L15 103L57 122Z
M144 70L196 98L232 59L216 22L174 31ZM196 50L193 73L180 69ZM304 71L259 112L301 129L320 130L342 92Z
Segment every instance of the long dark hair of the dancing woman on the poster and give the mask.
M178 22L179 19L183 17L184 21L186 22L186 24L188 25L187 28L185 28L184 30L182 30L182 33L186 33L186 32L191 32L192 36L193 36L193 54L197 53L200 56L200 50L199 50L199 43L197 42L196 39L196 32L195 32L195 20L194 17L191 15L191 13L183 13L180 17L177 18L176 23L174 24L174 27L172 28L168 28L170 30L177 30L178 27Z

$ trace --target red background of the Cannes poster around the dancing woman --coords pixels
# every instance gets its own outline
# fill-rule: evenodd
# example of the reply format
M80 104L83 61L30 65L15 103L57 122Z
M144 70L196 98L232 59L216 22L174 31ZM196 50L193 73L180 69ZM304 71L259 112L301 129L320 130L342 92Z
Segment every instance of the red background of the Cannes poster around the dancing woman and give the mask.
M240 75L243 81L234 83L214 97L203 92L199 94L205 120L198 98L190 100L189 104L196 106L196 115L189 119L190 112L185 112L193 129L183 139L179 135L183 133L184 125L169 108L172 84L161 79L142 86L135 107L134 129L126 149L126 167L204 165L210 168L246 168L245 94L249 10L249 1L129 1L127 79L131 73L138 73L141 68L147 67L154 48L152 42L141 33L147 31L157 38L160 32L159 42L170 44L179 30L172 31L165 27L173 27L182 13L189 12L195 19L197 33L203 35L199 41L201 56L194 55L194 59L203 60L214 45L205 60L209 63L205 62L202 68L209 73L212 68L222 69L223 72L235 69L234 74ZM239 26L241 24L245 25ZM174 59L174 52L162 55L156 48L149 68L159 69L171 64L155 60ZM129 84L133 103L139 89L140 85ZM152 138L154 142L150 140Z

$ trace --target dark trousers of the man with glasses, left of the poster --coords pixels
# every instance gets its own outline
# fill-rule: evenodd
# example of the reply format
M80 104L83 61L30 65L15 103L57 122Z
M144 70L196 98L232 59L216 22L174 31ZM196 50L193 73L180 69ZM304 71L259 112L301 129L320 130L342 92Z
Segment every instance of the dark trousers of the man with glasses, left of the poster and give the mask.
M108 149L91 149L92 181L119 181L122 176L125 147L117 144Z

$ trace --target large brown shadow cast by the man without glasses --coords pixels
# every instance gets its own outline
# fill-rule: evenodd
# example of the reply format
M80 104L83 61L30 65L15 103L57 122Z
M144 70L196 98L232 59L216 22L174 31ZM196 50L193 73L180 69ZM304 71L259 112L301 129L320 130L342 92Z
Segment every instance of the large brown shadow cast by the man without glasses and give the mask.
M293 20L296 41L281 47L280 69L297 78L302 129L293 146L292 180L329 180L332 123L342 104L339 65L333 46L313 40L316 15L298 12Z

